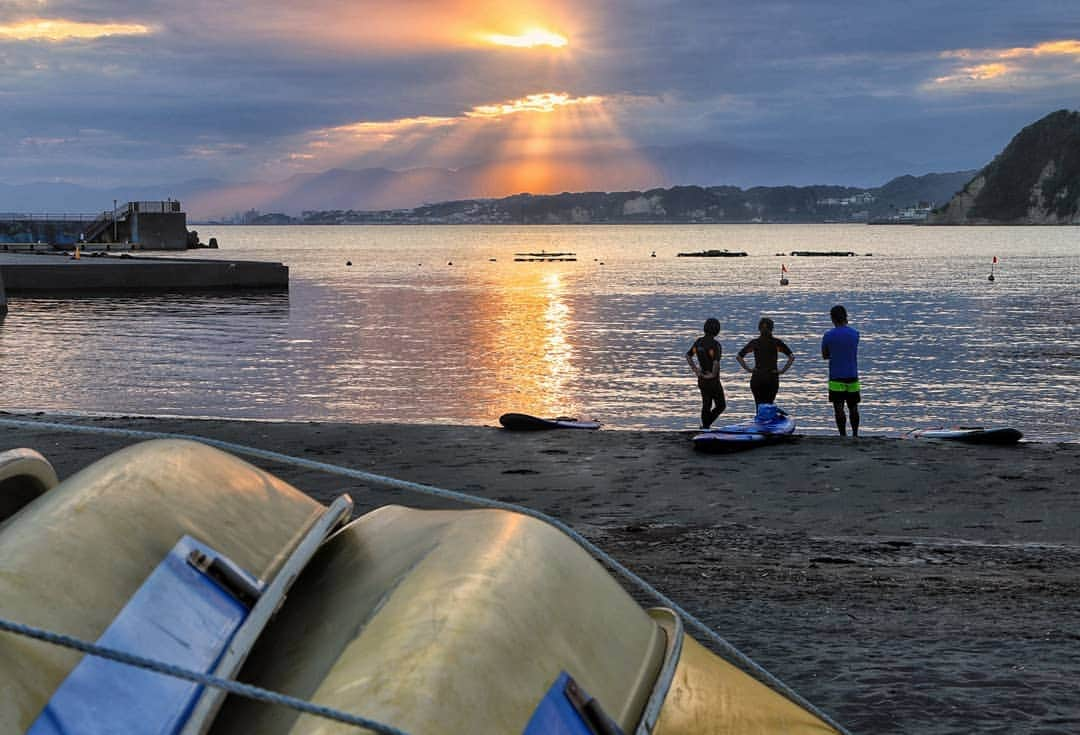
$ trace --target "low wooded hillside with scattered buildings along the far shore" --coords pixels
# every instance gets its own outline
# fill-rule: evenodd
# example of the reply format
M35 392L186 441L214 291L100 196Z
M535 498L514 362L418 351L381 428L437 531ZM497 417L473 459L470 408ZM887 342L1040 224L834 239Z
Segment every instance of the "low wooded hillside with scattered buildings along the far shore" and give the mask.
M327 223L584 224L634 222L865 222L946 201L974 172L902 176L883 187L672 187L646 191L515 194L410 209L306 212L292 220ZM270 223L281 216L255 218Z

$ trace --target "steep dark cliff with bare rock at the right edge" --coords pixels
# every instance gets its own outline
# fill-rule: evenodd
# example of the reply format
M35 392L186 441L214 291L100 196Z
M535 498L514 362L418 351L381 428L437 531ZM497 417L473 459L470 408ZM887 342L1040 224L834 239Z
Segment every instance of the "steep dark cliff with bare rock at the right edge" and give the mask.
M1080 112L1058 110L1017 133L928 221L1080 224Z

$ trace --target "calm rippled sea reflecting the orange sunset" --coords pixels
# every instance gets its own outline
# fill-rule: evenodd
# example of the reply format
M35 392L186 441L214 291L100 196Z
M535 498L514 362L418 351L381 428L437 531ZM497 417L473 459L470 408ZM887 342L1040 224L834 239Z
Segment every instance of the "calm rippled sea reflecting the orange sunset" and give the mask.
M687 428L699 398L683 355L702 322L723 324L724 423L753 412L734 353L769 315L796 353L778 403L820 433L832 431L820 339L839 302L862 334L864 432L1080 437L1077 228L197 229L221 249L183 257L282 261L289 292L12 297L2 406L468 424L524 411ZM750 255L677 257L711 248ZM514 261L540 250L578 259ZM779 255L792 250L859 255Z

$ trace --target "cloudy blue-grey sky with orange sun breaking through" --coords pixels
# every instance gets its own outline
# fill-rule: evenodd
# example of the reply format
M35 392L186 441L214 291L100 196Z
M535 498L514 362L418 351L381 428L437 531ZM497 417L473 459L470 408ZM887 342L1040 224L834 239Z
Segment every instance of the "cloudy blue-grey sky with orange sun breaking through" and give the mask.
M0 0L9 185L869 187L1078 99L1076 0Z

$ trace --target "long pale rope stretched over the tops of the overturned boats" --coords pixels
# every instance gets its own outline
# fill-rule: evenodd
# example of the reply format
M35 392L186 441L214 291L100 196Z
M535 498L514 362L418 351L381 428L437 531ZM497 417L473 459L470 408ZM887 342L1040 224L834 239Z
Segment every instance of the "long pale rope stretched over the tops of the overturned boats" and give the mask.
M583 535L575 531L572 528L564 523L563 521L549 516L544 513L536 511L534 508L526 507L524 505L515 505L513 503L505 503L498 500L488 500L486 498L477 498L475 495L470 495L457 490L446 490L444 488L437 488L432 485L423 485L421 482L413 482L410 480L402 480L394 477L387 477L384 475L377 475L375 473L365 472L363 469L353 469L351 467L342 467L336 464L329 464L327 462L318 462L314 460L306 460L300 457L292 457L289 454L283 454L281 452L270 451L267 449L258 449L256 447L247 447L245 445L233 444L231 441L222 441L220 439L213 439L204 436L188 435L188 434L173 434L167 432L146 432L132 428L111 428L107 426L82 426L79 424L65 424L54 421L27 421L21 419L0 419L0 425L13 426L16 428L54 428L58 431L70 431L70 432L81 432L87 434L106 434L110 436L125 436L138 439L189 439L194 441L200 441L202 444L210 445L212 447L217 447L218 449L232 452L234 454L245 454L247 457L256 457L264 460L271 460L274 462L280 462L283 464L291 464L297 467L306 467L308 469L315 469L319 472L325 472L332 475L339 475L342 477L349 477L356 480L362 480L370 485L378 485L383 487L399 488L402 490L409 490L413 492L423 493L426 495L432 495L435 498L443 498L446 500L457 501L459 503L464 503L468 505L476 505L482 507L499 508L502 511L511 511L513 513L519 513L537 520L541 520L550 526L554 526L563 533L568 535L575 542L577 542L581 547L588 550L595 559L607 566L612 571L617 572L625 580L634 584L638 589L643 590L648 596L652 597L654 600L660 602L665 608L671 608L675 613L684 620L688 627L693 628L704 638L713 643L713 645L731 663L738 664L750 673L754 675L759 681L768 684L772 690L783 694L785 697L799 705L804 709L810 711L815 717L820 718L831 727L834 727L841 735L850 735L849 731L842 727L840 724L835 722L828 714L823 712L821 709L815 707L813 704L805 699L798 692L793 690L791 686L785 684L783 681L774 677L767 669L760 666L757 662L753 661L750 656L744 654L742 651L737 649L733 644L729 643L719 634L715 632L707 625L699 621L697 617L691 615L689 612L684 610L675 601L671 600L656 589L648 582L639 577L637 574L632 572L626 567L622 566L619 561L609 556L602 548L593 544L591 541L585 539Z

